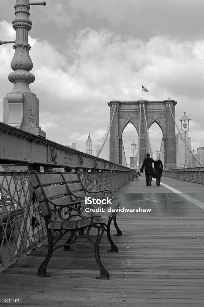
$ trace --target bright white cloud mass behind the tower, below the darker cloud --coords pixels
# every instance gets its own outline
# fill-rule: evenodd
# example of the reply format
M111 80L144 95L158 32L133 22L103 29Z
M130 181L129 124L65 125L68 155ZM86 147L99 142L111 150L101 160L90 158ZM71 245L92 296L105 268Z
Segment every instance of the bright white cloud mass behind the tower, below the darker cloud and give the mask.
M0 29L2 37L12 33L8 22L1 22ZM145 99L175 99L176 117L186 111L193 135L202 130L204 40L154 36L145 41L90 27L67 33L64 40L67 53L57 44L29 37L31 72L36 76L30 88L39 98L40 126L48 139L66 145L76 142L82 151L88 133L95 144L100 143L110 121L107 102L139 99L142 84L149 89ZM7 80L12 71L11 46L2 45L0 56L2 98L13 88ZM2 107L2 99L0 103ZM203 136L200 142L202 146Z

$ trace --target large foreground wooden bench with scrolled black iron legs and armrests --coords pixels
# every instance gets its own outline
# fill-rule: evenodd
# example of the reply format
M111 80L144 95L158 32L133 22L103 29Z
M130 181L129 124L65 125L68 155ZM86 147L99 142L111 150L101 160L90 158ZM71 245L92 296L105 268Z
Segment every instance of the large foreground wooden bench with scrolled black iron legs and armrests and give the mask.
M98 278L109 279L109 273L100 260L99 243L104 231L106 231L111 246L111 249L108 251L117 252L117 246L114 244L110 235L110 224L112 220L114 220L117 235L122 235L121 230L117 226L116 214L112 215L109 213L109 216L107 214L104 214L104 216L101 214L83 216L80 209L81 201L85 196L98 195L105 198L107 194L112 196L112 192L108 189L97 192L88 191L83 186L78 173L38 174L35 171L31 171L29 178L44 216L48 235L47 256L40 265L37 275L50 276L46 274L46 267L53 251L59 247L64 247L64 251L71 251L70 246L76 244L75 241L78 235L83 235L94 245L94 247L89 247L95 252L95 259L101 273ZM113 198L111 207L118 208L119 203L120 200ZM91 228L97 229L95 242L90 237ZM87 229L87 233L84 232L85 229ZM56 239L53 237L53 231L59 232L59 236L55 236ZM67 237L66 242L57 246L56 243L64 238L67 233L70 235Z

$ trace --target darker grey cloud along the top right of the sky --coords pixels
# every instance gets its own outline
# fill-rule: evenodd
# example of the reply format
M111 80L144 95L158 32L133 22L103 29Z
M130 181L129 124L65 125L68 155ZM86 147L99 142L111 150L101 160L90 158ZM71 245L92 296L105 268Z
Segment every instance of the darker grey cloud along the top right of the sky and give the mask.
M64 4L64 10L75 16L75 26L107 27L144 41L154 36L176 37L181 41L203 37L201 0L71 0Z

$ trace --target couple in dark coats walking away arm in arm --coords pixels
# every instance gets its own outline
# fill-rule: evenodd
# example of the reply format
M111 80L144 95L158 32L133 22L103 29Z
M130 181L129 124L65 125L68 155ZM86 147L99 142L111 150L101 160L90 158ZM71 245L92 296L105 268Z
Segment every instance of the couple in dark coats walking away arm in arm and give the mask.
M144 159L142 167L141 167L141 173L143 173L143 169L145 170L145 177L146 177L146 184L150 187L152 186L152 163L154 162L154 168L155 168L155 178L156 178L156 186L158 187L160 185L161 181L161 174L163 169L162 161L160 160L160 157L156 158L156 161L150 158L150 154L147 153L147 157ZM161 166L160 166L161 165Z

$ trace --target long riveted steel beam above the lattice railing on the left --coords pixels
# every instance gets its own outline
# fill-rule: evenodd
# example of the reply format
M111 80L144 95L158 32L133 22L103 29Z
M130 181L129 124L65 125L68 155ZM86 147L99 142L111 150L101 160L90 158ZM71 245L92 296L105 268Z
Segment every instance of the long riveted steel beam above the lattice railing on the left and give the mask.
M68 148L46 138L0 122L0 164L16 163L39 166L132 171L125 166Z

